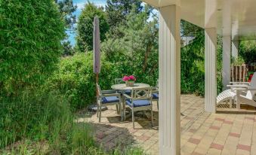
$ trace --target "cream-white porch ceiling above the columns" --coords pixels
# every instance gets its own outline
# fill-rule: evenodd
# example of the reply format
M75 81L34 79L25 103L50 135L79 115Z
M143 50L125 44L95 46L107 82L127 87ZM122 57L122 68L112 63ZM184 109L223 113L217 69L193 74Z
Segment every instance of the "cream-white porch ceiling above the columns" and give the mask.
M256 0L143 0L156 8L180 5L180 17L205 28L205 2L217 11L217 33L233 40L256 39ZM209 7L209 6L208 6Z

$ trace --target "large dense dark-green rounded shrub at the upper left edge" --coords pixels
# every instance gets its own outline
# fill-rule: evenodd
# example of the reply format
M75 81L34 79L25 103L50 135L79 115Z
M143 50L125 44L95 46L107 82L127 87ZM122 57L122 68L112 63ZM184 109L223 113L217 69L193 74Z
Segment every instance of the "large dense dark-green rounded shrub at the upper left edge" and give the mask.
M64 24L52 0L10 0L0 5L0 89L17 93L54 70Z

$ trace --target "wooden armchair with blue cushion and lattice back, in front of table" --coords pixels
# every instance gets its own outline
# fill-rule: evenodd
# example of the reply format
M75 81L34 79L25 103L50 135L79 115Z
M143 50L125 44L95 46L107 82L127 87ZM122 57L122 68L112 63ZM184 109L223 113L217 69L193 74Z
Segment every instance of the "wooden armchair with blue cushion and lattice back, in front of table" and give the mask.
M131 96L124 94L125 104L131 109L132 123L134 127L134 112L135 111L151 111L151 123L153 126L153 106L152 106L152 88L133 88L131 90ZM125 114L125 108L124 108Z

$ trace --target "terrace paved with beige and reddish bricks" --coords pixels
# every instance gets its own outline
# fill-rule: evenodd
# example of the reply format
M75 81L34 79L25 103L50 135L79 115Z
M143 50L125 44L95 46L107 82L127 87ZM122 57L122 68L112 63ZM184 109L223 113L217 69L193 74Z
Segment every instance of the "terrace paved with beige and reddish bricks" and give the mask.
M102 112L101 123L96 114L79 121L94 124L97 142L106 150L135 144L148 154L159 154L158 111L153 102L154 127L150 113L143 119L137 114L135 129L131 118L120 122L115 107ZM256 154L256 116L254 114L209 114L204 112L204 99L181 96L181 154Z

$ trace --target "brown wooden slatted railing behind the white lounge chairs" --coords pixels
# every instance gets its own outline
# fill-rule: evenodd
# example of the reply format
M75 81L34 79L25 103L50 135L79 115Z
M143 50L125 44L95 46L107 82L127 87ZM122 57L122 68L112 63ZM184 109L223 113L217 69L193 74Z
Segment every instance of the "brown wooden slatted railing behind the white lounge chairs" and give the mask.
M246 82L248 71L256 71L256 63L249 65L233 65L231 66L231 81L232 82Z

